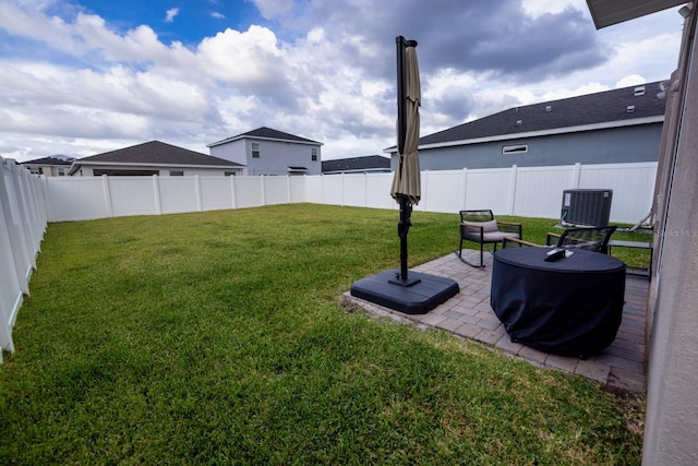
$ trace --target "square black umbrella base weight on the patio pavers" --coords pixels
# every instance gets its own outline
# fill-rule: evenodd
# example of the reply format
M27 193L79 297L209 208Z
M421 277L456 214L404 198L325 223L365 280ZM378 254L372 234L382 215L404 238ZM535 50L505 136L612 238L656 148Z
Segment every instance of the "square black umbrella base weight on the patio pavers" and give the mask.
M351 284L351 296L406 314L425 314L460 291L450 278L410 271L409 280L413 283L399 283L400 271L389 270Z

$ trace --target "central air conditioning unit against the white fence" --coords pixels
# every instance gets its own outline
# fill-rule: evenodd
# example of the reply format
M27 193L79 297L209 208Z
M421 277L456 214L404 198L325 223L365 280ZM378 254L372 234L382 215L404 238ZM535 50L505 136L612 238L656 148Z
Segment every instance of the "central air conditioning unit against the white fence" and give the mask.
M610 189L568 189L563 191L561 225L607 227L611 215Z

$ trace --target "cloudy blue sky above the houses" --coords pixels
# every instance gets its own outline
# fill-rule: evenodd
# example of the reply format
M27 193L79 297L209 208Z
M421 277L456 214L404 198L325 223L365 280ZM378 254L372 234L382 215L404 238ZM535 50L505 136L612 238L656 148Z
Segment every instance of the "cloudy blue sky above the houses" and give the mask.
M266 126L323 159L395 144L395 37L419 41L421 134L665 80L677 9L595 31L583 0L0 0L0 156L84 157Z

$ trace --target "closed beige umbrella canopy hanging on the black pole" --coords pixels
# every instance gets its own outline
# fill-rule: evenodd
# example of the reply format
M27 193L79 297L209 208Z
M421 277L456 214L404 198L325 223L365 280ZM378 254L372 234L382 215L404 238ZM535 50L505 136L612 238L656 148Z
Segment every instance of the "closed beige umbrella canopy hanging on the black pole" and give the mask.
M400 141L398 128L398 167L393 178L390 195L398 200L407 196L410 204L417 205L421 198L421 180L419 168L419 106L421 100L421 84L419 80L419 64L417 50L411 45L405 49L405 140ZM398 121L399 126L399 121ZM400 146L402 151L400 152Z

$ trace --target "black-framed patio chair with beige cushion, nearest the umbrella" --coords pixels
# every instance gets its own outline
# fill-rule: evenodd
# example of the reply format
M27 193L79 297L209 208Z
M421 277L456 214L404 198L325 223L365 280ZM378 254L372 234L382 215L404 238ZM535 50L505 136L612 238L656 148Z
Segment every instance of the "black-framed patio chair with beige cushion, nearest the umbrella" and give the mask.
M460 246L456 255L471 267L484 267L484 244L497 244L505 238L521 238L521 224L513 222L498 222L492 211L460 211ZM462 256L462 242L473 241L480 244L480 264L471 264Z

